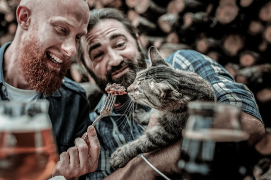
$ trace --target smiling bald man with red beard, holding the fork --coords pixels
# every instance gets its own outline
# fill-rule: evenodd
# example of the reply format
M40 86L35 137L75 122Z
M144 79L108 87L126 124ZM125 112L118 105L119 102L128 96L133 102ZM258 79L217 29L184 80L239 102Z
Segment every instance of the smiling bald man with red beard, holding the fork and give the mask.
M1 99L47 99L61 153L54 175L68 179L92 172L100 145L89 126L89 102L83 88L64 77L87 32L87 1L21 0L16 16L14 40L0 48ZM80 138L86 131L87 142Z

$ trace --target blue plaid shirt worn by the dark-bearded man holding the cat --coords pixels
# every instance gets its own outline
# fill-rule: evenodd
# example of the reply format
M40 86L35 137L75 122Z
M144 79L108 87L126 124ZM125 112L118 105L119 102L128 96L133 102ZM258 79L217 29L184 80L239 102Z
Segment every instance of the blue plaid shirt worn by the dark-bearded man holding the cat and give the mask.
M217 101L240 105L248 114L261 121L253 93L233 77L216 61L194 50L178 50L165 59L174 68L196 72L213 87ZM93 122L104 105L106 95L102 97L96 111L90 113ZM101 151L98 167L95 172L87 174L86 179L103 179L114 170L110 167L109 157L119 146L137 138L146 126L135 123L131 118L113 111L110 116L102 118L96 125Z

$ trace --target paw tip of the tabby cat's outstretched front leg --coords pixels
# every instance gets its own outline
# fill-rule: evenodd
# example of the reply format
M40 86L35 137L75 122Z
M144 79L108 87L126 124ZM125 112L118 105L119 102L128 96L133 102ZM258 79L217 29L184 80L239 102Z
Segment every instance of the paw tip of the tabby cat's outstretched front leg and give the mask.
M124 167L129 160L130 157L127 154L127 150L122 146L118 147L116 151L111 154L109 162L111 167L117 169Z

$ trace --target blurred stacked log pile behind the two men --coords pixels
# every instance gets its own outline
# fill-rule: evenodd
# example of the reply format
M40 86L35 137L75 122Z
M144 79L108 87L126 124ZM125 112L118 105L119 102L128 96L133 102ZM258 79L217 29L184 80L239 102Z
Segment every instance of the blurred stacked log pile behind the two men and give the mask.
M19 1L0 0L1 45L13 38ZM143 45L156 46L164 57L177 49L194 49L218 61L253 91L265 125L271 127L271 0L88 0L88 4L90 9L124 11ZM70 77L85 81L76 67Z

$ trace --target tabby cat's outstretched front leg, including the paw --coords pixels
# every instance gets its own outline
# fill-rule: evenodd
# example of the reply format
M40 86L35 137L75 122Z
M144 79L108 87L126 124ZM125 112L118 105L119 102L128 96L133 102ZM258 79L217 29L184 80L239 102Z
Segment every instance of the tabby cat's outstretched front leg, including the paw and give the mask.
M121 168L134 156L165 147L176 139L176 134L169 134L160 125L154 126L147 129L138 139L118 147L110 156L110 165L113 168Z

